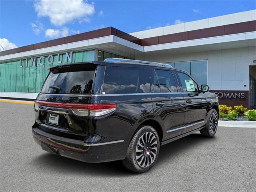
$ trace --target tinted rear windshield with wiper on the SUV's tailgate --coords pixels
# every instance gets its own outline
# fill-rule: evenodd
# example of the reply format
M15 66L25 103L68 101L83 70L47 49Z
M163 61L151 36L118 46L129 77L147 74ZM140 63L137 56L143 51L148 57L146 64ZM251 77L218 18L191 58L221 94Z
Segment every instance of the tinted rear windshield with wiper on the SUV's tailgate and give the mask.
M50 72L41 93L91 94L95 69L86 71Z

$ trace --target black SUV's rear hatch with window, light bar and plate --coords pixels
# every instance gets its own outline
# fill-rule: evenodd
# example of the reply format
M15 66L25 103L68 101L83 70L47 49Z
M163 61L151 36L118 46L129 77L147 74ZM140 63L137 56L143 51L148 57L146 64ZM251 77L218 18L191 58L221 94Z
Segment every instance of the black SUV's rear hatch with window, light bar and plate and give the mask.
M88 104L97 67L97 64L85 63L50 68L35 101L39 128L58 136L84 140L89 129L89 113L104 108L101 104Z

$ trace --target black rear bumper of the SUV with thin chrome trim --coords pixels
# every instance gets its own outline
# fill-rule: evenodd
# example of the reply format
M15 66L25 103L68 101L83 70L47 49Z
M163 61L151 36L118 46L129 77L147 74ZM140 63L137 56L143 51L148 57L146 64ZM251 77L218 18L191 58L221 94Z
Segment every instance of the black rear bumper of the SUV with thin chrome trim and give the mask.
M33 137L43 150L88 163L122 160L126 155L124 140L105 143L84 143L33 128Z

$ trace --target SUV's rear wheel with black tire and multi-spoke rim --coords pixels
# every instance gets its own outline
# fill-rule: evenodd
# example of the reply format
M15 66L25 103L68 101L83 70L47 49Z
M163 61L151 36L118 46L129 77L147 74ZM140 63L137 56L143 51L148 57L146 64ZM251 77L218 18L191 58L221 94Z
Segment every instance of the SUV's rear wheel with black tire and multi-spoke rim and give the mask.
M151 126L142 126L133 136L122 163L133 172L146 172L155 164L159 148L156 130Z

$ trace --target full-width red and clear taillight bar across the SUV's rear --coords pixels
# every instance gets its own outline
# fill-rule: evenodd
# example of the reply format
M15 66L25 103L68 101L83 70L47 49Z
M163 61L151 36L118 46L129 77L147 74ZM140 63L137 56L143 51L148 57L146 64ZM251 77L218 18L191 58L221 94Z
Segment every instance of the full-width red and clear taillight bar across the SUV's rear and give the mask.
M58 108L70 109L74 115L77 116L101 116L116 110L116 103L103 103L103 104L72 104L72 103L56 103L47 101L35 101L35 106L52 107L58 112ZM36 109L36 107L35 107Z

